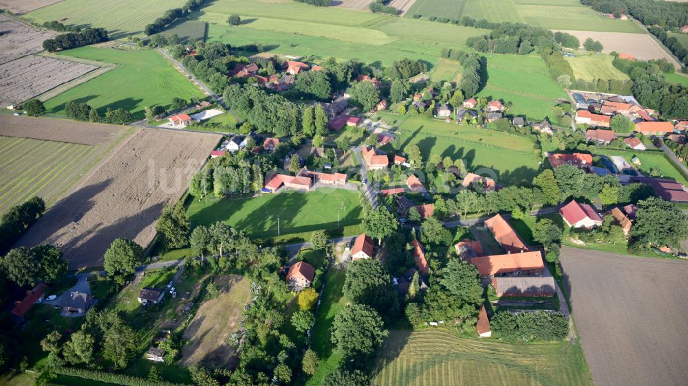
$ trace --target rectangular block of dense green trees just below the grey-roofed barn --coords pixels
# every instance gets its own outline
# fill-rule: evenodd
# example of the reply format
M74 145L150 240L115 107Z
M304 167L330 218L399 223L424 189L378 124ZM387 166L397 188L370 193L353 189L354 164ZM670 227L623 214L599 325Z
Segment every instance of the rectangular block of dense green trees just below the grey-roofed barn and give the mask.
M519 341L555 341L568 335L568 317L561 313L528 311L513 315L508 311L492 317L490 327L499 339Z

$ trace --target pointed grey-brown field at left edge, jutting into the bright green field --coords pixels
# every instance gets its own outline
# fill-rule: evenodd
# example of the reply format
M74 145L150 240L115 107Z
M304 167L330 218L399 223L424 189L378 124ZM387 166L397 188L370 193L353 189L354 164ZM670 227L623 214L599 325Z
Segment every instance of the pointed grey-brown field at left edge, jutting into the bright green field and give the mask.
M98 67L45 56L24 56L0 65L0 104L18 104Z

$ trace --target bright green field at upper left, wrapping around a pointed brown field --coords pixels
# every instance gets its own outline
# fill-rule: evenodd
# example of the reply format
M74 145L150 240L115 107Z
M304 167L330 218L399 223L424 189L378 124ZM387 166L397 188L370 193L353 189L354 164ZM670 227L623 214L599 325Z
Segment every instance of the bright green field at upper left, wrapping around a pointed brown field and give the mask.
M144 106L160 105L170 109L174 97L187 100L194 96L204 97L192 82L152 49L125 52L80 47L61 52L60 55L114 63L118 67L48 100L45 102L48 113L62 114L65 104L76 100L98 109L100 115L105 115L108 108L122 108L142 119Z

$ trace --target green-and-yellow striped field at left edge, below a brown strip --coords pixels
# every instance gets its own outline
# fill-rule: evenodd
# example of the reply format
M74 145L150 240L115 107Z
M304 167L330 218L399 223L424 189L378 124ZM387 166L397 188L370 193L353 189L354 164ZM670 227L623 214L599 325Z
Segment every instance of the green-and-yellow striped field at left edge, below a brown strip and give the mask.
M0 214L32 196L41 196L48 206L54 204L93 165L98 148L0 137Z

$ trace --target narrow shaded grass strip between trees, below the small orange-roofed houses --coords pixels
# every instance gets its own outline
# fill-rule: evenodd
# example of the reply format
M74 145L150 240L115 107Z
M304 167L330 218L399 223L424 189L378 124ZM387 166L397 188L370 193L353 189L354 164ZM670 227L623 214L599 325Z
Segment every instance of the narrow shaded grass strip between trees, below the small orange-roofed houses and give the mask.
M305 382L308 386L317 386L323 382L328 374L334 372L341 361L341 355L334 351L330 337L332 337L332 323L334 317L345 306L342 288L346 272L343 269L332 268L327 271L325 289L321 295L322 303L315 315L315 326L312 331L311 348L318 354L320 365L317 372ZM302 383L297 383L302 384Z

